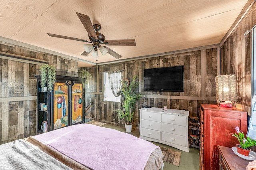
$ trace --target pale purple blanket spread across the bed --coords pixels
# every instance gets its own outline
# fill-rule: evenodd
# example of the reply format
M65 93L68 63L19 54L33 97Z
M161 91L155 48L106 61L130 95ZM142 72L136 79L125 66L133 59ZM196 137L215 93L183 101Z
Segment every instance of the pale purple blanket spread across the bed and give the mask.
M143 170L159 146L131 134L90 124L32 136L94 170Z

